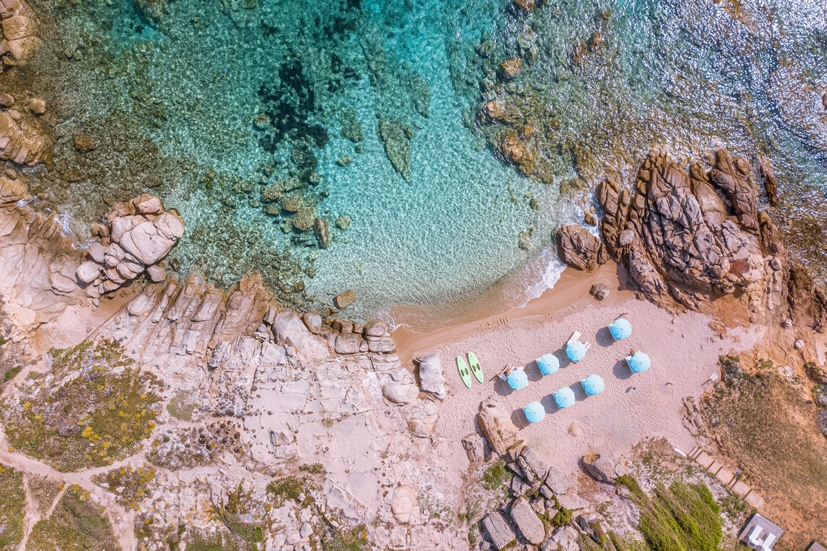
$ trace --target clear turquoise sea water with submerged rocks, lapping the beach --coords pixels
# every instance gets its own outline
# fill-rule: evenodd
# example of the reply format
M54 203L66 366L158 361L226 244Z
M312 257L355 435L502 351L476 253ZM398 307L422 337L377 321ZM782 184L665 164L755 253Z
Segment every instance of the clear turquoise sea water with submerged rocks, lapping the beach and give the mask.
M182 273L261 271L320 308L352 288L354 317L450 318L504 280L497 300L519 304L559 273L557 225L583 223L589 190L632 178L653 145L770 160L785 227L810 232L792 248L825 265L825 2L31 4L43 44L22 71L53 106L50 201L83 238L106 202L159 195L187 224ZM514 57L523 72L504 82ZM491 99L553 121L552 178L501 162L478 116ZM585 191L561 196L572 178ZM330 246L294 229L301 216L327 220Z

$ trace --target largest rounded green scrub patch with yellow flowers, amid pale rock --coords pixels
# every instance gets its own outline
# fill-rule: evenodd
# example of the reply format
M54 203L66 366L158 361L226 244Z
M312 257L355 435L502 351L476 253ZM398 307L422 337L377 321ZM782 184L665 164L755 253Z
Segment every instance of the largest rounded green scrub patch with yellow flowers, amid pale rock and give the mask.
M159 381L132 367L110 340L52 349L50 373L7 398L12 449L60 471L108 465L134 453L155 428Z

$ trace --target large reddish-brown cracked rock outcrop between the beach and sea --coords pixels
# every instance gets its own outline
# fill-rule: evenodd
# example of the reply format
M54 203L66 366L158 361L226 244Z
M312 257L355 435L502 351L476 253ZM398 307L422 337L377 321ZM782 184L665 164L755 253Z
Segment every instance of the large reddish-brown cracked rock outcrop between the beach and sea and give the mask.
M719 150L709 171L695 163L687 172L653 150L632 191L607 179L596 195L606 247L653 302L698 308L747 293L752 311L781 304L786 255L758 212L745 159Z

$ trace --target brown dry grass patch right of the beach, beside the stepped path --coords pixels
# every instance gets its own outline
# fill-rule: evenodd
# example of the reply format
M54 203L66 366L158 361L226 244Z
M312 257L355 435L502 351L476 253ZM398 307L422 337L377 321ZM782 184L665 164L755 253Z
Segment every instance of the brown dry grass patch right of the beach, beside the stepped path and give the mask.
M772 362L743 369L720 361L723 382L701 402L721 454L743 469L767 500L767 511L788 530L784 549L804 549L827 538L827 440L815 423L815 405Z

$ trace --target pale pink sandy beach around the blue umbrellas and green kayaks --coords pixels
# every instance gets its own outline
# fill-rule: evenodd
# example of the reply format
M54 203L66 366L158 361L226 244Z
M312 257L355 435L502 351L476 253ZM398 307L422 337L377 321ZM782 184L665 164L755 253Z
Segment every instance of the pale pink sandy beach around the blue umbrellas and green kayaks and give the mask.
M645 437L666 437L685 452L695 445L681 422L681 399L700 395L710 374L718 371L719 354L751 349L763 332L758 327L736 327L721 340L710 329L710 316L672 316L649 302L636 300L633 292L619 290L615 269L609 264L593 274L566 270L557 287L543 297L501 316L469 320L425 335L407 329L394 334L404 361L427 352L437 352L442 358L449 391L436 427L442 439L437 454L448 472L466 469L461 439L476 430L480 401L492 394L504 411L511 412L519 437L552 465L571 473L583 454L624 454ZM588 294L595 282L605 283L611 290L603 302ZM614 342L606 326L624 312L633 333L629 339ZM574 330L581 332L581 340L592 344L579 363L569 362L562 349ZM632 374L619 361L630 349L649 354L652 368L648 372ZM468 350L480 359L487 379L482 385L474 381L471 389L462 384L454 360ZM561 368L543 377L533 360L546 353L556 354ZM495 378L506 363L525 366L528 387L513 391ZM603 378L605 391L586 397L580 381L592 373ZM571 387L577 398L574 406L565 410L559 410L552 397L562 387ZM528 425L521 408L530 401L543 403L545 420ZM582 430L577 437L568 432L573 422Z

